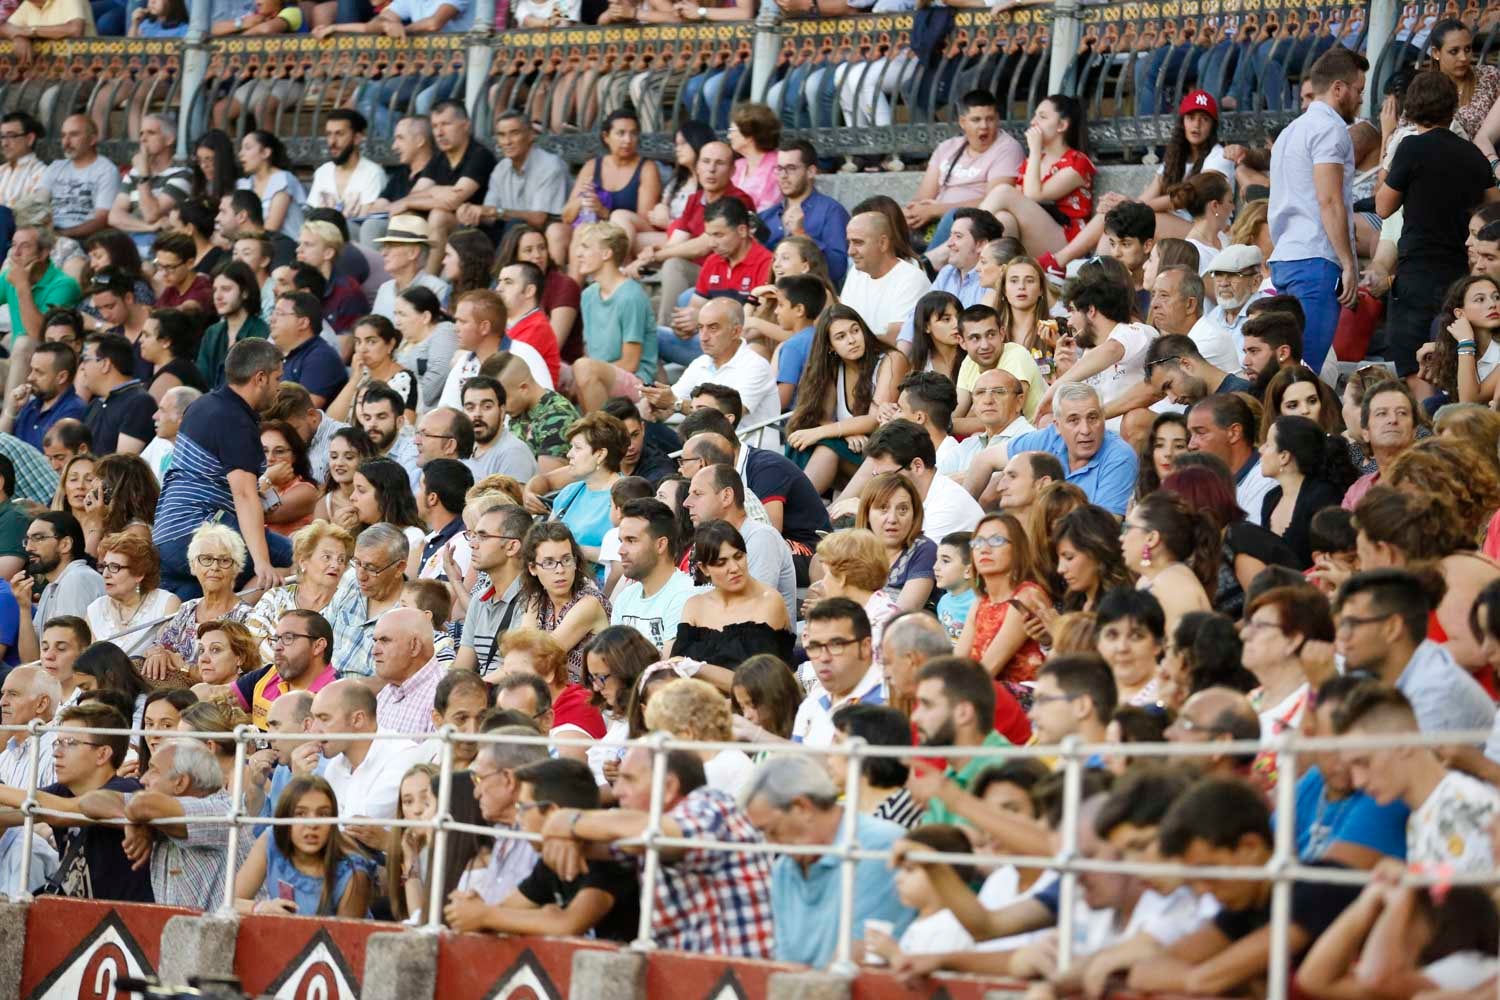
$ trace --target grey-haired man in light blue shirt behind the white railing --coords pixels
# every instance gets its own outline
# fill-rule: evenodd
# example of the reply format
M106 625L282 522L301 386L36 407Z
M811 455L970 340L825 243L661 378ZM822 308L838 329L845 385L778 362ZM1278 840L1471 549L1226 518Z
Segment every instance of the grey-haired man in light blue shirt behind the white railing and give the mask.
M825 846L843 840L838 790L826 771L807 757L777 757L756 768L741 796L750 822L777 844ZM855 844L888 850L906 831L890 820L860 816ZM843 864L838 855L783 855L771 868L771 916L776 919L776 960L825 969L838 949L838 901ZM885 861L860 861L854 874L850 937L864 939L864 922L890 921L900 939L916 915L896 894L896 873Z

